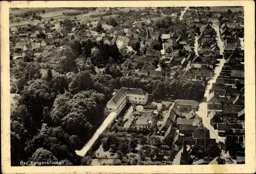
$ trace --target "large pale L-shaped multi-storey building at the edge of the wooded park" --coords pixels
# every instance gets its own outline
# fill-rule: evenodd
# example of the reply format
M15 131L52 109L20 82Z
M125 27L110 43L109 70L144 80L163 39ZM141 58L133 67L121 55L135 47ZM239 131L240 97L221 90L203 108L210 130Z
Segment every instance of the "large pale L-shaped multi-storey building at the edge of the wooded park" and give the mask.
M148 93L143 89L122 87L106 104L106 109L119 114L126 103L145 105L148 100Z

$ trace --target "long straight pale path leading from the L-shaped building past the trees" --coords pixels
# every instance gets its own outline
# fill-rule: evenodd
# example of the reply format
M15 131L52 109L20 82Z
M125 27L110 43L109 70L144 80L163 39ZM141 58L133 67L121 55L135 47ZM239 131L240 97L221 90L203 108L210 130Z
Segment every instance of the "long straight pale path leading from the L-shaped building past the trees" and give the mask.
M111 112L108 117L103 121L101 126L97 129L97 131L93 134L92 138L83 146L82 150L75 151L76 155L83 157L90 150L94 142L98 139L98 137L105 131L106 128L112 123L112 121L116 118L117 113Z

